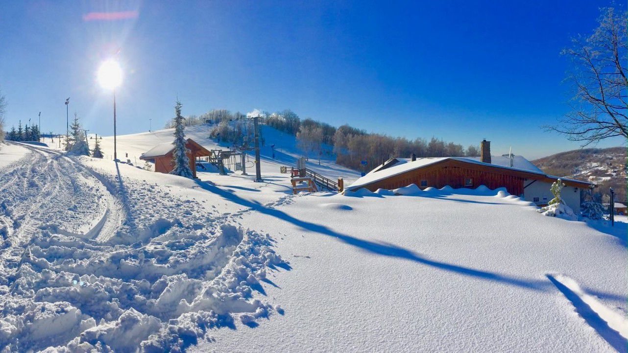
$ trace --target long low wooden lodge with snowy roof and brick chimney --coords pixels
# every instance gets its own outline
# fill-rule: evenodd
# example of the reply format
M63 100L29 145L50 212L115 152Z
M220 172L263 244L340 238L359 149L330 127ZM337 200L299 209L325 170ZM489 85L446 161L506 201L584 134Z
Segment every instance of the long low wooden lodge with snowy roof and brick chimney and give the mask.
M522 156L490 155L490 141L480 143L479 157L435 157L435 158L391 158L374 168L367 175L356 180L347 190L367 188L394 189L416 184L421 189L506 188L511 195L517 195L542 206L553 198L549 187L559 177L548 175ZM580 209L584 192L593 185L590 182L560 178L565 183L562 197L574 210Z

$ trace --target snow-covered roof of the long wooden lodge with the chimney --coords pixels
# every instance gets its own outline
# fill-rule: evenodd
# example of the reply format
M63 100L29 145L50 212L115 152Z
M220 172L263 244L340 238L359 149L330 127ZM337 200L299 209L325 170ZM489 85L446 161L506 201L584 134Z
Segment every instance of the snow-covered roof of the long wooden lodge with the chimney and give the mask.
M513 166L510 166L510 158L507 156L491 156L491 161L493 163L484 163L480 161L479 157L426 157L426 158L417 158L416 161L411 161L409 158L396 158L399 162L395 165L368 173L367 175L362 176L358 180L355 180L354 183L349 185L347 189L354 189L364 187L365 185L379 182L380 180L387 179L394 175L399 175L405 173L406 171L415 170L418 168L423 168L424 166L432 165L434 163L438 163L444 160L457 160L466 163L474 163L478 165L487 165L487 166L497 166L499 168L504 168L508 170L516 170L516 171L525 171L528 173L534 173L541 176L548 176L549 178L560 178L561 180L577 182L577 183L586 183L592 184L589 182L583 182L582 180L575 180L570 178L563 178L560 176L552 176L546 175L540 170L537 166L535 166L531 161L526 160L526 158L522 156L514 156Z

